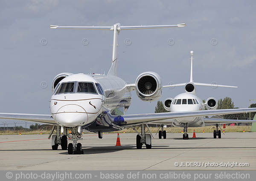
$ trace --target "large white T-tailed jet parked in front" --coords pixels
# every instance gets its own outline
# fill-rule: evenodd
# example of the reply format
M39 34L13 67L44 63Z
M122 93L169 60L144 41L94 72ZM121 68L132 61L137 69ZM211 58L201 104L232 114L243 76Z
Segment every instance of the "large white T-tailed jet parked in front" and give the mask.
M112 65L108 75L85 75L61 73L52 81L52 98L50 115L0 113L2 119L15 119L52 124L52 149L68 149L69 154L83 153L81 143L82 131L102 132L122 130L127 126L141 126L137 132L136 145L141 149L145 144L151 149L151 135L145 133L148 122L170 120L173 118L232 114L239 112L256 112L251 109L226 109L211 111L169 112L160 114L125 115L131 104L131 91L135 90L143 101L156 101L162 95L161 78L154 72L141 73L135 83L127 83L117 76L117 47L119 32L130 29L155 29L184 27L186 24L157 26L50 26L51 29L91 29L113 32ZM148 126L147 126L148 128ZM135 129L136 130L136 129ZM56 134L52 134L53 132ZM137 131L137 130L136 130ZM151 133L151 132L150 132ZM73 143L67 144L67 138Z

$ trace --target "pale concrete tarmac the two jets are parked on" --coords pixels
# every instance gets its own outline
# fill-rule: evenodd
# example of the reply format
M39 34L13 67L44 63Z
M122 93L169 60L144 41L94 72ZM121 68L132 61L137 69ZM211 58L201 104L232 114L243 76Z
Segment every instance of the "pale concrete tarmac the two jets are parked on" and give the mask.
M153 133L152 149L136 149L135 133L119 135L121 147L117 133L84 134L83 155L68 155L61 146L53 151L48 135L0 135L0 170L256 170L256 132L226 132L221 139L196 133L189 140Z

